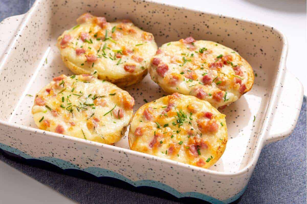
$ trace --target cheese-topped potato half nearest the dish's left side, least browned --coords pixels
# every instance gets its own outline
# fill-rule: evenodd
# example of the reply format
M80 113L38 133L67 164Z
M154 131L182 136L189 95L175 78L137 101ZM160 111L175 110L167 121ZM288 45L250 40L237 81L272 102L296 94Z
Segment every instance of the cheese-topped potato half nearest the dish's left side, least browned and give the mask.
M37 93L32 114L40 129L114 144L125 134L133 106L127 91L97 73L61 75Z

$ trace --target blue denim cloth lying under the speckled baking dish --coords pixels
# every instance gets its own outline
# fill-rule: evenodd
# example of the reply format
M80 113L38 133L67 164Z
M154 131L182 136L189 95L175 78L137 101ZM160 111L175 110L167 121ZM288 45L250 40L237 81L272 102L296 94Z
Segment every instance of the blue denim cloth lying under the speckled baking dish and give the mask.
M34 0L0 0L0 21L25 13ZM46 184L79 203L181 203L182 200L163 196L152 189L142 192L130 187L97 183L67 176L55 171L29 166L0 153L0 159L19 171ZM95 193L95 192L99 193ZM240 204L306 203L306 97L292 135L266 145L248 183Z

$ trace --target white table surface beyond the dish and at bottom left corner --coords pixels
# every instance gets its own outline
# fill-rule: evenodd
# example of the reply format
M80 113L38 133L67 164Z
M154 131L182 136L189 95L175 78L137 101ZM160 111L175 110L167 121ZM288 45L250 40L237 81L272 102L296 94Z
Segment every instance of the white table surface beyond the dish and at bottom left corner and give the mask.
M283 32L288 39L287 69L307 91L306 80L306 1L305 0L155 0L171 5L218 13L265 23ZM74 203L52 188L0 161L2 203ZM18 192L18 193L16 193Z

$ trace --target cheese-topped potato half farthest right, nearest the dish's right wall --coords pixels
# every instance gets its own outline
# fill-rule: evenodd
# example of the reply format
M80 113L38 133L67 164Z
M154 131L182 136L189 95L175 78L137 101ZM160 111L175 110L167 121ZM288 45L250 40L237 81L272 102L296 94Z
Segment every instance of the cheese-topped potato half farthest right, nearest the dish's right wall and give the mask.
M164 91L193 95L216 108L236 101L254 83L251 65L237 52L192 37L162 45L148 70Z

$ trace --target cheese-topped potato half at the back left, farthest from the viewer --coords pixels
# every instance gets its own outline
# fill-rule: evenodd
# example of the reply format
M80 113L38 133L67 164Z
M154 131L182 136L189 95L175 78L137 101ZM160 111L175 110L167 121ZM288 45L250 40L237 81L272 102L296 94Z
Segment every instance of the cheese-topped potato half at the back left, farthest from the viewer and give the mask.
M109 23L104 17L85 13L78 25L58 38L65 65L75 74L98 72L98 78L118 86L141 81L147 74L157 44L151 33L130 20Z

